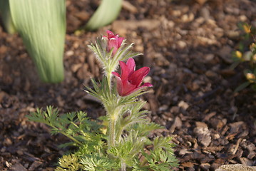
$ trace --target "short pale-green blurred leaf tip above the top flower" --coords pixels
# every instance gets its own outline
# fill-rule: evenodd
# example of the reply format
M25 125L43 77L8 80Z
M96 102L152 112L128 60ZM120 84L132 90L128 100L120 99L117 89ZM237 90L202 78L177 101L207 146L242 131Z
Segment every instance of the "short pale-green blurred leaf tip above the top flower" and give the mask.
M102 0L101 5L86 24L87 30L96 30L111 24L121 11L122 0Z

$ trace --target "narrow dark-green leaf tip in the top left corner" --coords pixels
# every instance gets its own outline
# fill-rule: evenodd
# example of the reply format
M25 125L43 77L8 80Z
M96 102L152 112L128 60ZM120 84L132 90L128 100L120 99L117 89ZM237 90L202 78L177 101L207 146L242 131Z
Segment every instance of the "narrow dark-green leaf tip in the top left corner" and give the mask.
M0 13L6 31L10 34L15 33L16 29L14 27L14 22L11 19L9 0L0 0Z

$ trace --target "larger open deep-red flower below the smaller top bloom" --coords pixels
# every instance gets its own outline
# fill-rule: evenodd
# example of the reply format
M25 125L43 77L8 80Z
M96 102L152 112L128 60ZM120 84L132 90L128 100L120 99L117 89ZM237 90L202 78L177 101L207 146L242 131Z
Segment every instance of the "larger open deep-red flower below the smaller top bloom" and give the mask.
M135 71L135 61L133 58L129 58L126 63L119 61L119 64L121 66L121 76L119 73L112 72L113 75L116 76L119 95L126 96L140 88L153 86L150 83L144 83L143 86L140 86L143 78L147 76L150 71L149 67L143 67Z

